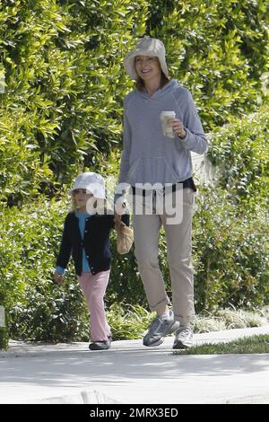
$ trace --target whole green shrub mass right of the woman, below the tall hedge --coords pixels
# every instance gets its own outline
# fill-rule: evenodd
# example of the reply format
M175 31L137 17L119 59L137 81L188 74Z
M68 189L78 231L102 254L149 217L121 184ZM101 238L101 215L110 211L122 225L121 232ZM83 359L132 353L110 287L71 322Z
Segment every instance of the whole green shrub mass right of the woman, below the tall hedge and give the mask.
M200 187L194 218L198 312L268 303L269 110L211 134L213 186Z

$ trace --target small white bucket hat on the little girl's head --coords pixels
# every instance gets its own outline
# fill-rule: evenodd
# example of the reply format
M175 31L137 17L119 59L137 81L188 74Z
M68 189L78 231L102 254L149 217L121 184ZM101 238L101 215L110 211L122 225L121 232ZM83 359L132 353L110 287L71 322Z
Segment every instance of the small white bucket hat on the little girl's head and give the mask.
M74 180L74 187L69 190L71 195L75 189L86 189L94 198L105 199L105 181L100 174L93 171L85 171Z

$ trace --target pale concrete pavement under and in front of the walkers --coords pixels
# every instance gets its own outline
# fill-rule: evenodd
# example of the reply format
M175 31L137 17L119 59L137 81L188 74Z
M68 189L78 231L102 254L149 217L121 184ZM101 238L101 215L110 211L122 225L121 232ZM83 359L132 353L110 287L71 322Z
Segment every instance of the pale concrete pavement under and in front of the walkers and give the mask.
M195 344L255 334L269 326L195 334ZM269 355L174 356L172 343L115 341L92 352L88 343L11 342L0 351L0 403L269 403Z

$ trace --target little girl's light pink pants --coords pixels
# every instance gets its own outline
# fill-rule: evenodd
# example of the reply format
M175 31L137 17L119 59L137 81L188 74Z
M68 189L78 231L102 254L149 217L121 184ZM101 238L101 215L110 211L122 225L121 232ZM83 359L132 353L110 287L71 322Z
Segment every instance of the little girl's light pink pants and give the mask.
M108 271L100 271L93 275L91 273L82 273L78 277L91 313L90 318L90 337L91 341L103 341L111 335L110 327L105 314L104 295L108 286Z

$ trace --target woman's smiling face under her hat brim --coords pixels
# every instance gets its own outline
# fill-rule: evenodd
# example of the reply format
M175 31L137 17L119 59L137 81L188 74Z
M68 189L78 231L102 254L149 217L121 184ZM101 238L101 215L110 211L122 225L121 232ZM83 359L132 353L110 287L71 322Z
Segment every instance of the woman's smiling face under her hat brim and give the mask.
M134 66L137 75L143 79L145 84L153 80L160 81L161 65L158 57L136 56L134 57Z

